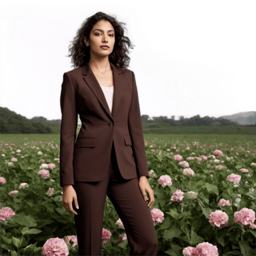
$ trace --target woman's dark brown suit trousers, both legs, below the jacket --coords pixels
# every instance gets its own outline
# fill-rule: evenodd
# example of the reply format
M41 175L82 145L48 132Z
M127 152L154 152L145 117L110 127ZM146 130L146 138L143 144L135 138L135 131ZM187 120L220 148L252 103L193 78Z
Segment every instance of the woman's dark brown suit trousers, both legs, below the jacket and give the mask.
M99 182L74 182L73 187L78 196L79 206L77 210L73 201L73 209L78 213L74 214L74 222L79 255L101 255L106 195L125 227L123 233L127 235L130 255L157 255L158 238L150 208L142 196L138 178L122 178L118 170L114 144L105 177Z

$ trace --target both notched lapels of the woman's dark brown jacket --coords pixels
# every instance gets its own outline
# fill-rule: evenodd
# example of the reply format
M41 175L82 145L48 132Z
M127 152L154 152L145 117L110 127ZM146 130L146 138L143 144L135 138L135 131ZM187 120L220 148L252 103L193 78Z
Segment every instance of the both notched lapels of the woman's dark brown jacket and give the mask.
M82 66L82 74L83 79L86 81L86 84L90 87L90 89L94 92L95 96L98 98L98 101L102 104L102 107L106 110L106 113L109 114L110 118L114 121L114 114L118 110L118 104L122 94L122 72L124 71L121 67L115 66L110 62L111 69L113 71L113 79L114 79L114 95L113 95L113 106L112 113L110 112L110 108L106 102L105 95L102 91L101 86L98 83L97 78L94 75L94 72L90 68L90 63L86 62L84 66Z

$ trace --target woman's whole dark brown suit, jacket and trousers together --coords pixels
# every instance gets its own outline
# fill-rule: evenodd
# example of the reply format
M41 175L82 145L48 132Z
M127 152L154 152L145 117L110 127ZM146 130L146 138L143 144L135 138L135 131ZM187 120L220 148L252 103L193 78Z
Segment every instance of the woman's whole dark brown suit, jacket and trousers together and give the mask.
M63 74L60 183L71 184L78 196L79 209L74 200L72 206L79 255L101 255L103 226L116 229L103 225L106 195L125 226L129 255L157 255L154 222L138 181L149 172L135 76L110 66L112 113L89 62ZM75 142L78 114L82 128Z

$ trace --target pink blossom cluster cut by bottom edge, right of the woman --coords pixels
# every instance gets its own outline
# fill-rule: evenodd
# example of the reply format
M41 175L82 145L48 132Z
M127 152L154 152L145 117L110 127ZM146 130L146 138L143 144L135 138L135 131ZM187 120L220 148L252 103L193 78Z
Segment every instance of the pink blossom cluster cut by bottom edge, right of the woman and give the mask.
M191 246L184 248L182 253L185 256L218 256L218 248L209 242L202 242L196 248Z

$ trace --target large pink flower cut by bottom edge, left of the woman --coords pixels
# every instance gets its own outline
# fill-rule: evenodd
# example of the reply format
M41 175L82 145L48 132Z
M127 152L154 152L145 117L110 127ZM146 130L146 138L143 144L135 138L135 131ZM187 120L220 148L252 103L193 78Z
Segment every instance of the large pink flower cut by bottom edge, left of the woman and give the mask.
M50 238L42 246L43 256L68 256L69 250L64 239Z

